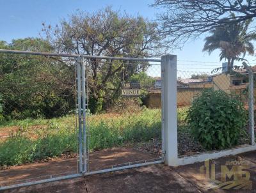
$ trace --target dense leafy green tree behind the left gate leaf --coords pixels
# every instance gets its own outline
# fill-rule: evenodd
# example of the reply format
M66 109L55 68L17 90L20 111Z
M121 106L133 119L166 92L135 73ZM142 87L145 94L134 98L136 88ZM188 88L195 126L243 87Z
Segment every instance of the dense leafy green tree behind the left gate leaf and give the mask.
M1 42L1 48L51 52L39 38ZM1 54L0 93L8 119L52 118L75 108L74 70L58 58Z

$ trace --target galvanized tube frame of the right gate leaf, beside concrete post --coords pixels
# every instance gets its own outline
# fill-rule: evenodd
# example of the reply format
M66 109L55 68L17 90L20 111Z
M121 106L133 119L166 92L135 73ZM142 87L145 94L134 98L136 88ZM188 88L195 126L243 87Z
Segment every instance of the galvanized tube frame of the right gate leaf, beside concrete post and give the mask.
M157 66L157 70L159 71L158 74L160 76L163 75L161 73L161 64L159 63L160 59L139 59L139 58L115 58L115 57L100 57L100 56L80 56L77 58L76 62L76 72L77 72L77 118L78 118L78 128L79 128L79 173L83 175L90 175L90 174L97 174L97 173L106 173L110 171L118 171L122 169L128 169L132 167L140 167L140 166L147 166L149 164L159 164L164 162L164 129L161 126L161 157L151 158L151 159L143 159L140 160L132 160L128 159L127 162L119 162L118 164L115 163L113 165L105 166L105 167L98 167L98 168L91 168L90 167L90 126L91 123L89 122L90 114L88 114L88 95L90 95L90 89L88 88L89 79L89 71L92 64L92 59L97 59L98 61L102 62L101 60L111 60L111 61L122 61L122 63L126 62L126 65L131 65L129 61L136 61L142 63L150 62L148 66ZM105 64L103 64L105 65ZM159 78L161 82L161 86L159 86L158 90L160 90L161 95L161 88L163 87L163 82L161 78ZM160 96L160 101L163 103L162 96ZM163 104L161 104L163 105ZM163 110L160 112L160 116L163 113ZM100 116L100 115L99 115ZM161 119L161 117L160 117ZM92 120L95 121L102 121L102 120ZM112 120L115 121L115 120ZM163 121L161 121L163 124ZM139 129L139 128L138 128ZM97 162L99 160L93 159L92 162Z

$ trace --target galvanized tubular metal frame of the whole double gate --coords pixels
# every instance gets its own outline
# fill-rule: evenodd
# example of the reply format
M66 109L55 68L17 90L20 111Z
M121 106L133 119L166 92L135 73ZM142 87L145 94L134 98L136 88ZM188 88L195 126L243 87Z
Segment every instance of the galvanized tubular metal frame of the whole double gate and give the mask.
M44 180L28 180L25 183L15 183L12 185L6 185L0 187L0 190L13 189L17 187L24 187L28 185L36 185L40 183L47 183L50 181L58 181L65 180L70 178L77 178L79 176L86 176L90 174L98 174L98 173L106 173L110 171L118 171L122 169L128 169L132 167L140 167L146 166L149 164L159 164L164 162L164 129L163 129L163 109L156 110L159 117L159 124L157 128L160 128L161 139L160 143L162 144L161 156L157 156L156 158L141 158L141 160L129 160L125 163L122 161L118 162L118 164L112 164L112 166L106 166L104 168L90 168L90 164L92 162L97 162L99 160L90 160L91 150L90 150L90 115L87 113L88 111L88 95L90 95L90 89L88 88L88 72L90 72L90 66L92 63L92 59L95 60L108 60L108 61L122 61L126 62L125 65L131 65L132 62L138 63L147 63L148 66L154 66L157 69L157 75L159 76L159 84L161 85L157 88L160 92L158 95L160 96L160 103L163 107L163 93L161 95L161 90L163 92L163 73L161 73L161 59L143 59L143 58L118 58L118 57L105 57L105 56L86 56L86 55L76 55L76 54L56 54L56 53L47 53L47 52L30 52L30 51L21 51L21 50L0 50L0 53L5 54L25 54L25 55L36 55L36 56L51 56L51 57L61 57L61 58L74 58L76 60L74 67L76 68L76 113L77 113L77 127L78 127L78 136L77 136L77 169L78 172L74 174L60 174L59 176L49 175L47 178L43 178ZM149 67L150 68L150 67ZM152 67L151 67L152 68ZM153 75L152 75L153 76ZM162 77L161 77L162 76ZM90 83L90 82L89 82ZM152 93L154 93L152 91ZM162 97L162 98L161 98ZM99 115L100 116L100 115ZM136 117L136 114L132 115ZM93 123L93 121L92 121ZM154 126L155 127L155 126ZM147 130L145 131L147 132ZM121 136L122 137L122 136ZM122 155L122 153L121 153ZM39 176L40 177L40 176ZM40 179L40 178L38 178Z

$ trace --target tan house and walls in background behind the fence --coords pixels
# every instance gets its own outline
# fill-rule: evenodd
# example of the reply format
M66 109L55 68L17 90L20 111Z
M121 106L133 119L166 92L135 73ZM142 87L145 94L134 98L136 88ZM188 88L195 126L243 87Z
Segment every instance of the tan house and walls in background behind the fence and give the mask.
M256 73L256 66L253 66L253 72ZM149 108L161 107L161 77L154 77L156 80L154 88L148 90L145 98L145 105ZM223 63L221 73L210 75L206 79L177 79L177 105L191 105L193 98L200 95L204 89L213 88L214 90L223 90L228 94L236 95L246 102L244 89L248 86L248 72L245 69L232 70L227 73L227 63ZM255 90L256 96L256 90Z

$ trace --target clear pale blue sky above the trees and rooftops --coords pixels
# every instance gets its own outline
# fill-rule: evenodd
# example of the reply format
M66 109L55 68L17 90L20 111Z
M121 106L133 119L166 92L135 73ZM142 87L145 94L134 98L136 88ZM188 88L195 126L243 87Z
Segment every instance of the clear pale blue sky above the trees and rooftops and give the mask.
M130 15L142 15L150 20L163 10L148 6L154 0L0 0L0 40L8 43L12 39L39 36L42 22L58 24L61 19L76 12L96 12L106 6ZM191 40L182 50L171 48L170 54L177 55L179 70L190 72L211 72L212 68L221 66L219 51L209 56L202 52L204 38ZM252 65L256 58L246 56ZM237 64L239 65L239 63Z

